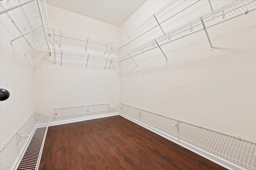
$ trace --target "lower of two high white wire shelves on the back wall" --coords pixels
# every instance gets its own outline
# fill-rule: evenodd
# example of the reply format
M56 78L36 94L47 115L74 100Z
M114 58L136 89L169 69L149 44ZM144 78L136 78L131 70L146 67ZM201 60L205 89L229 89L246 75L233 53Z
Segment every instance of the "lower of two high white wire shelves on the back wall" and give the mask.
M52 55L54 56L54 65L56 65L56 57L60 57L61 61L60 64L62 65L62 59L67 58L67 59L78 59L78 60L84 60L86 64L86 68L88 61L104 61L105 68L110 68L110 65L112 64L112 61L114 61L114 58L112 57L104 57L104 56L98 56L98 55L91 55L91 54L86 54L86 53L78 53L74 51L64 51L64 50L59 50L59 49L52 49ZM108 65L108 67L106 67ZM103 68L103 67L102 67Z

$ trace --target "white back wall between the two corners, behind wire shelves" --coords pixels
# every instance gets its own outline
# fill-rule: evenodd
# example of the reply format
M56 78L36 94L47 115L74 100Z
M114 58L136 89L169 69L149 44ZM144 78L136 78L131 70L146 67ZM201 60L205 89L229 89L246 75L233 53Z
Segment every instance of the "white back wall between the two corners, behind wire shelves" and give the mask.
M119 39L119 28L67 10L46 4L50 28L60 29L104 41L115 42ZM51 46L53 37L49 38ZM60 43L55 39L56 49ZM85 44L62 39L62 50L85 53ZM88 47L89 54L104 53ZM117 55L113 52L110 56ZM64 56L65 57L65 56ZM113 63L110 70L104 70L104 61L74 60L48 57L45 53L35 54L35 94L36 111L52 115L54 108L86 106L119 102L119 66ZM108 68L109 63L107 64Z

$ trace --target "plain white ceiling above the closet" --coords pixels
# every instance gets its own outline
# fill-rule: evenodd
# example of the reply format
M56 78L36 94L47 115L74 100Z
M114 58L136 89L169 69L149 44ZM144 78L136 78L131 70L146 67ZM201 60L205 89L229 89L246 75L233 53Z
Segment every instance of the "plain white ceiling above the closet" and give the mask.
M47 4L120 26L146 0L46 0Z

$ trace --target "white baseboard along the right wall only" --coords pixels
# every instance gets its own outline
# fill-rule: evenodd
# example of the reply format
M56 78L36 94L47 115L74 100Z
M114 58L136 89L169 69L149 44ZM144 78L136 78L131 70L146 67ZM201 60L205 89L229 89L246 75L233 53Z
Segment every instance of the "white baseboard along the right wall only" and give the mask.
M162 136L162 137L164 137L164 138L166 138L166 139L168 139L168 140L170 140L170 141L172 141L172 142L174 142L174 143L176 143L176 144L178 144L178 145L180 145L180 146L182 146L182 147L184 147L184 148L186 148L186 149L188 149L188 150L190 150L190 151L192 151L192 152L194 152L194 153L196 153L196 154L198 154L198 155L200 155L200 156L202 156L202 157L204 157L204 158L206 158L206 159L208 159L208 160L210 160L210 161L212 161L212 162L214 162L214 163L216 163L216 164L219 164L220 166L223 166L224 168L227 168L228 170L248 170L248 169L243 168L229 160L226 160L220 156L217 156L211 152L208 152L208 151L201 149L199 147L196 147L190 143L182 141L181 139L178 139L178 138L173 137L167 133L164 133L154 127L146 125L145 123L137 121L136 119L133 119L132 117L124 115L123 113L119 113L119 115L156 133L156 134L158 134L158 135L160 135L160 136Z

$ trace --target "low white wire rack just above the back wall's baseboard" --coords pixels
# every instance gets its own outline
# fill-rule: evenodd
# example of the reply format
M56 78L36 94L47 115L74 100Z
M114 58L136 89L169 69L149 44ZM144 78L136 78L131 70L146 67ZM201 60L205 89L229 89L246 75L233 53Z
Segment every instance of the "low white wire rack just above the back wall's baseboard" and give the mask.
M90 106L66 107L54 109L54 119L78 115L87 115L101 112L111 112L110 104L98 104Z

